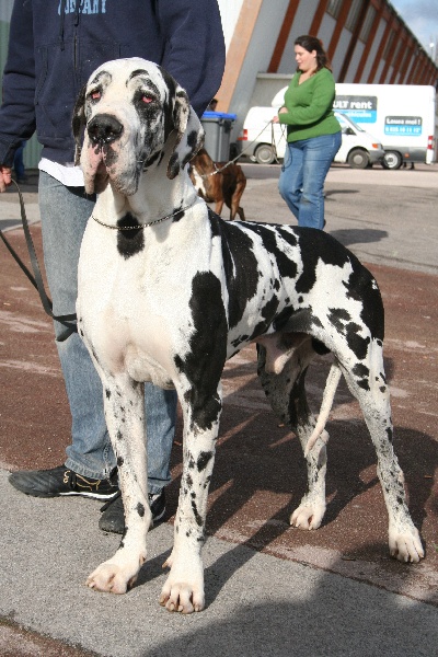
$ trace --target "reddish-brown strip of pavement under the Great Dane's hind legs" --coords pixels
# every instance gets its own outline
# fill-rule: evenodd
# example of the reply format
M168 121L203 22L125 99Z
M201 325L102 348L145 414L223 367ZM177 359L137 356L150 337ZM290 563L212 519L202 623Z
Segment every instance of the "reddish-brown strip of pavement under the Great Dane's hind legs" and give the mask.
M39 227L32 232L41 253ZM10 232L8 238L27 262L21 231ZM70 424L51 321L3 245L0 264L0 464L50 468L64 461ZM223 376L226 402L208 532L438 604L437 278L384 266L369 268L385 304L385 364L395 448L412 516L425 541L426 560L406 566L389 558L376 454L358 405L345 385L338 390L327 427L324 523L314 532L289 527L288 518L306 488L304 463L298 440L279 426L258 387L252 348L232 359ZM326 371L327 364L321 358L308 376L315 410ZM169 486L171 514L177 503L181 440L180 422L174 480Z

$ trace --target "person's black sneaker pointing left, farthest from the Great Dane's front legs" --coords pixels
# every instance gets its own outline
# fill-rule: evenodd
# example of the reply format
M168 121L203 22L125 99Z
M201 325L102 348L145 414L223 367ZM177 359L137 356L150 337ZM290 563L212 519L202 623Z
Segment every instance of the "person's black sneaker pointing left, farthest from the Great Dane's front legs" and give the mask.
M20 470L9 476L14 488L33 497L80 495L95 499L112 499L118 492L117 469L110 480L94 480L77 474L65 465L51 470Z

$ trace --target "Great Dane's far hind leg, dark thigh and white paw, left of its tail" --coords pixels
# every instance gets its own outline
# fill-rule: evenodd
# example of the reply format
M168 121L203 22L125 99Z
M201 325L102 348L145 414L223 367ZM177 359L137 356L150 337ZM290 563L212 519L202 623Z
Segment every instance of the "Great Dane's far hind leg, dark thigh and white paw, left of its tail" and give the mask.
M312 341L307 337L292 351L280 373L266 371L266 349L257 348L257 373L263 389L275 413L297 434L304 452L315 427L304 388L307 368L315 356ZM323 438L326 440L327 436ZM306 456L308 492L290 517L290 523L301 529L318 529L325 514L326 446L323 438L319 436L313 449Z

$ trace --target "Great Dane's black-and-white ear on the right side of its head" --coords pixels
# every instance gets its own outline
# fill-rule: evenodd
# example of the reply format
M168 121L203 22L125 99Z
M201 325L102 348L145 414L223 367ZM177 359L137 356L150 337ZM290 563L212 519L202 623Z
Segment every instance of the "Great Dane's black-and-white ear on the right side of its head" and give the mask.
M173 124L176 142L169 160L168 177L172 181L204 145L204 129L188 102L186 92L176 88Z

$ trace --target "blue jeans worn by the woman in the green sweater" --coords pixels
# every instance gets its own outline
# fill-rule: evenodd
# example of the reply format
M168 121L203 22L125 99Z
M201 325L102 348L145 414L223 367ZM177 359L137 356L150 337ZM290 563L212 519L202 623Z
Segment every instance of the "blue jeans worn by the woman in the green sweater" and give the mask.
M324 228L324 181L341 139L335 132L287 145L278 191L299 226Z

